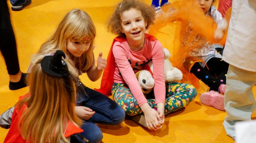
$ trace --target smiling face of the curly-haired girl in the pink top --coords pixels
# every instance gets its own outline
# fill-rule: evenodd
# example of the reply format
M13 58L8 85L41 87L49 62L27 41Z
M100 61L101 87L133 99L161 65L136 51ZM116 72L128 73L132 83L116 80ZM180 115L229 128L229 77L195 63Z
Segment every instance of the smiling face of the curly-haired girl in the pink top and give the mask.
M126 35L129 40L144 39L147 22L141 14L140 10L129 9L120 14L121 18L121 31Z

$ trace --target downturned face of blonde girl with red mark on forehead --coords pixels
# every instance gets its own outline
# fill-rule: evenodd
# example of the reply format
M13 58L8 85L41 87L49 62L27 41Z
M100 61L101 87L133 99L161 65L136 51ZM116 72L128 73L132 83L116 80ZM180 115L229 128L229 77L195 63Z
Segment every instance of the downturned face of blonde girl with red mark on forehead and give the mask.
M91 41L82 41L68 38L67 49L75 57L80 57L91 45Z

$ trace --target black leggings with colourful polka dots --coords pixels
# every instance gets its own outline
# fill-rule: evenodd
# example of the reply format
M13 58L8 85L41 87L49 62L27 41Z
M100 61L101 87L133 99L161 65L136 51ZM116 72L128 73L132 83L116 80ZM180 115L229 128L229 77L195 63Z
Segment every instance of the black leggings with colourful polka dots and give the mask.
M195 63L190 72L209 86L210 90L219 91L219 86L226 84L226 74L229 69L229 64L221 58L212 57L207 62L207 66L209 70L206 66L203 68L199 63Z

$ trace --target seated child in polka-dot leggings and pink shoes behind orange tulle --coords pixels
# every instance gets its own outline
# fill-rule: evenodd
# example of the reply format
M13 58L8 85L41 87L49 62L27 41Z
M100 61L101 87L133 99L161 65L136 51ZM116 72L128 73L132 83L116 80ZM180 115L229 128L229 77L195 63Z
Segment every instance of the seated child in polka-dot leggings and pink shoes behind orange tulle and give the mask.
M214 38L216 40L220 40L226 31L227 22L216 10L216 7L213 6L216 0L197 1L205 15L214 19L214 21L218 24L217 29L214 32ZM186 38L189 36L191 30L191 27L188 26L183 44L187 43ZM225 110L223 104L224 96L222 96L220 93L225 93L226 74L229 64L221 59L222 56L217 53L213 44L209 44L206 41L205 37L198 34L194 38L193 42L201 43L197 45L196 49L189 53L189 56L197 61L201 60L202 62L197 62L196 60L191 60L191 57L187 57L185 64L193 64L190 73L193 73L198 79L202 80L202 82L210 87L209 92L201 94L200 100L204 105L213 106L219 110Z

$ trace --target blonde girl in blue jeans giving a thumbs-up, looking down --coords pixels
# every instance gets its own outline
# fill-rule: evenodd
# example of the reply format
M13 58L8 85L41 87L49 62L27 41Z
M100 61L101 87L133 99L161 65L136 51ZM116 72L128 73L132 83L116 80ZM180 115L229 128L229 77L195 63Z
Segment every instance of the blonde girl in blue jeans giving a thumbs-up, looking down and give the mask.
M73 75L78 78L78 75L87 73L92 81L96 81L106 67L106 60L100 53L97 67L95 66L95 35L96 29L90 16L79 9L71 10L60 22L52 37L43 43L32 62L51 55L56 50L62 50L67 55L67 65ZM86 86L78 90L76 114L85 120L81 126L84 129L81 135L90 142L101 142L103 138L101 130L94 122L118 125L125 117L124 111L113 100Z

